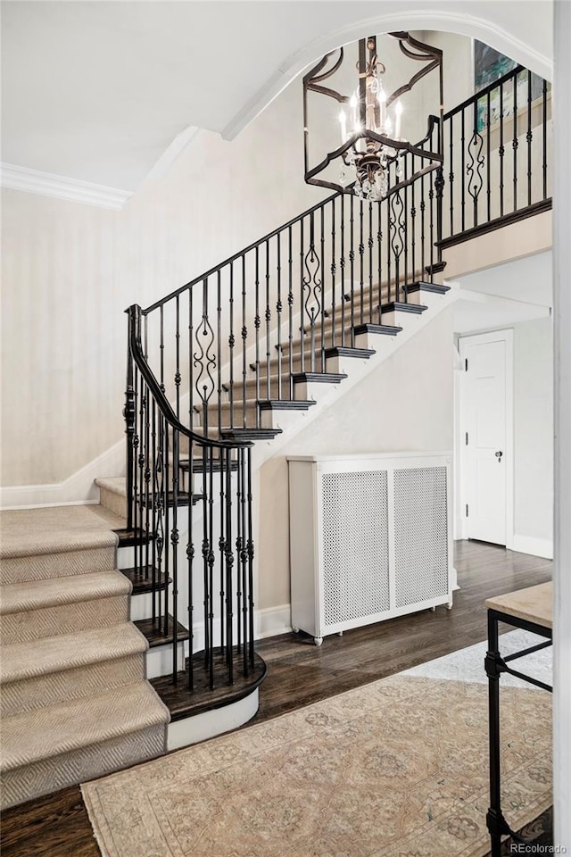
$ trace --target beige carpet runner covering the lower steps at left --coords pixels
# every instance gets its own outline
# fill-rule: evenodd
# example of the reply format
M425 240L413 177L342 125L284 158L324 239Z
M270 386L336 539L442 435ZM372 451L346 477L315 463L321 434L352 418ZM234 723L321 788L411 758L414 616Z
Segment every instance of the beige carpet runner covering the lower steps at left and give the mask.
M122 526L101 506L0 514L3 808L164 752L169 712L116 570Z

